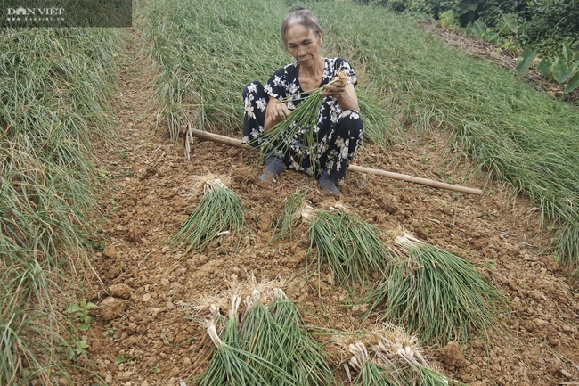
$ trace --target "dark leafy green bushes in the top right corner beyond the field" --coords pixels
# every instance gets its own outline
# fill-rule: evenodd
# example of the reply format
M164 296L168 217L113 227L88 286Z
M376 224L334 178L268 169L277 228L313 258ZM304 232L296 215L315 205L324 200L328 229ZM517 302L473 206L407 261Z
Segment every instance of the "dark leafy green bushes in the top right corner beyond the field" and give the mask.
M575 0L355 0L438 21L446 29L463 29L501 51L521 54L518 72L534 62L542 76L579 87L579 5ZM577 101L577 96L573 100Z

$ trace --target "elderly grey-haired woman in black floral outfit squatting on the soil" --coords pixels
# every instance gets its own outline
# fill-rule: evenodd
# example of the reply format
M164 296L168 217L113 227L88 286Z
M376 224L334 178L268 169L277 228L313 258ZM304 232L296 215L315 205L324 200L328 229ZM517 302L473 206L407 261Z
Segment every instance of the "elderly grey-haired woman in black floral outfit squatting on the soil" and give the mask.
M254 147L263 144L264 132L291 117L290 112L301 102L298 97L292 100L292 95L323 86L318 123L314 127L317 143L314 165L309 157L303 156L303 146L295 139L286 144L283 152L265 159L265 172L260 178L273 182L286 168L313 171L323 192L339 196L337 185L346 176L363 139L363 122L358 112L354 70L344 59L323 57L322 38L322 28L314 13L302 7L290 10L281 23L281 39L296 61L276 70L265 86L257 81L246 86L243 142ZM351 81L330 84L340 72Z

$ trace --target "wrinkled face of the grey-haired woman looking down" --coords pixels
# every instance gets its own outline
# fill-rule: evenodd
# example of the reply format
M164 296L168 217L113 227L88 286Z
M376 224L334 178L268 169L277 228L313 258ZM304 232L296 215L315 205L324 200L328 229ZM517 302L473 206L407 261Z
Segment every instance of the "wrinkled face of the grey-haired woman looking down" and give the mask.
M313 67L320 58L318 49L322 45L322 33L315 34L306 26L294 24L287 29L285 37L291 56L296 58L300 65Z

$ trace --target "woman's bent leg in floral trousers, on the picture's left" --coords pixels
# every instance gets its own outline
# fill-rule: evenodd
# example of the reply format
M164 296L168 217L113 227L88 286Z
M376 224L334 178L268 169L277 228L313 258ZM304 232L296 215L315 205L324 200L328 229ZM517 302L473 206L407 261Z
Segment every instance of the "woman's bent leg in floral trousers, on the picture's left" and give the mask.
M269 95L257 80L249 82L243 89L243 131L242 142L259 147L264 142L265 108Z

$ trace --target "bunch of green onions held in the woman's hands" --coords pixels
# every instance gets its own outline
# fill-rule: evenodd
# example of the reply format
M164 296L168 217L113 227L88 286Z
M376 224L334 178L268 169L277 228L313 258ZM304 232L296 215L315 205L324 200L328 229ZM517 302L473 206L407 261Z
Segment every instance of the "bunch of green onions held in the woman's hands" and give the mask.
M348 81L347 75L340 72L338 77L331 79L329 84L342 82L346 85ZM302 102L298 103L288 118L283 119L265 132L265 141L262 144L262 161L273 154L282 156L289 151L292 143L298 141L299 149L295 154L291 152L292 157L294 157L293 160L298 165L303 165L303 161L307 158L311 168L317 168L316 143L318 138L314 133L314 127L318 123L323 90L323 87L319 87L313 91L293 94L288 98L281 99L282 103L298 100Z

